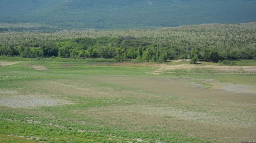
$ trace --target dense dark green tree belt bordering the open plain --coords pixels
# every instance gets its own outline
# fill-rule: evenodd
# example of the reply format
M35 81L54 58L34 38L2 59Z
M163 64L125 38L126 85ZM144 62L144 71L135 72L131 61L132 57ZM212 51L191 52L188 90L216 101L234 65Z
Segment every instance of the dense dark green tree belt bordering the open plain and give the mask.
M162 63L168 59L192 59L218 62L219 60L253 59L253 49L230 50L228 48L196 48L171 44L171 42L152 42L151 38L75 38L51 43L28 41L18 46L0 46L0 55L63 58L115 58L116 61Z

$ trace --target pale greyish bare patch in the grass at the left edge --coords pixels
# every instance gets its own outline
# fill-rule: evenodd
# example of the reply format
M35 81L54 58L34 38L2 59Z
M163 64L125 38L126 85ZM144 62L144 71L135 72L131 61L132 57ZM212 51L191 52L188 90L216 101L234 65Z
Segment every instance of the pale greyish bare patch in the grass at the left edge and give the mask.
M44 95L13 95L0 99L1 106L12 108L54 106L70 103L66 100L53 99Z

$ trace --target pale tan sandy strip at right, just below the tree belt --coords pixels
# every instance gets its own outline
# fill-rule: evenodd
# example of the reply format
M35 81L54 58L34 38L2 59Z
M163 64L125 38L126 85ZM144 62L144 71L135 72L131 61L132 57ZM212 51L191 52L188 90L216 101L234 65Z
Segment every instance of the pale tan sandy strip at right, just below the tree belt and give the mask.
M167 64L158 64L158 68L154 71L149 72L150 74L161 74L161 73L174 73L179 70L184 71L185 73L196 73L197 71L204 71L210 73L218 74L243 74L250 73L256 74L255 66L221 66L221 65L203 65L196 66L193 64L179 64L179 65L167 65Z

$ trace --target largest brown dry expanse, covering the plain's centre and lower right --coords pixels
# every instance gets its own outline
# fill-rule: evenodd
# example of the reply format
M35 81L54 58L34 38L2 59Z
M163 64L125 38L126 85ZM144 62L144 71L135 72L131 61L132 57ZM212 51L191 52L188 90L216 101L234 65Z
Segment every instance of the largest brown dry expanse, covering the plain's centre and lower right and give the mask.
M108 86L96 86L99 83ZM255 138L256 94L252 93L203 89L180 79L128 76L81 76L30 83L30 89L37 92L39 86L53 94L117 103L68 111L91 118L93 124L103 122L128 131L177 131L217 142Z

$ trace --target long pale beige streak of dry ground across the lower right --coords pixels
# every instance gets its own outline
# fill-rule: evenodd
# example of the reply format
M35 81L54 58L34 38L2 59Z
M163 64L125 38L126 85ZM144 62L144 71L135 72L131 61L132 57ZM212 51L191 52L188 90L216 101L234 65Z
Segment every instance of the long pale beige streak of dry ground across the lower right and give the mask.
M180 102L186 106L186 104ZM187 104L188 105L188 104ZM195 105L199 107L200 105ZM103 110L103 109L101 109ZM232 115L227 114L216 114L216 112L199 112L191 111L188 109L170 107L169 105L131 105L131 106L116 106L116 107L105 107L106 111L113 112L129 112L134 114L150 114L150 115L161 115L165 117L175 117L184 121L196 121L204 124L215 124L215 125L228 125L230 127L256 127L256 123L253 120L238 121ZM214 110L214 108L213 108Z

